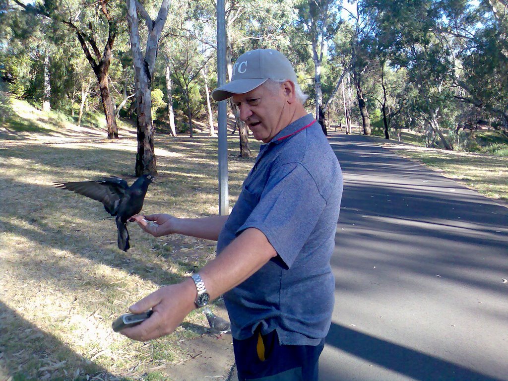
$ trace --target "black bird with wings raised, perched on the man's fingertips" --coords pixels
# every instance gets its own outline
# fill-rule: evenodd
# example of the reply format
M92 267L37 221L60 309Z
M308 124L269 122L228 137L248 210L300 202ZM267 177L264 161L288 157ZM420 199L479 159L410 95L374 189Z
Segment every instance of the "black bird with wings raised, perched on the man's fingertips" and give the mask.
M127 221L143 208L146 190L154 180L151 175L143 175L131 186L119 177L107 177L103 180L93 181L57 182L54 185L57 188L72 190L80 195L102 202L104 209L116 217L118 248L127 251L131 247L129 245Z

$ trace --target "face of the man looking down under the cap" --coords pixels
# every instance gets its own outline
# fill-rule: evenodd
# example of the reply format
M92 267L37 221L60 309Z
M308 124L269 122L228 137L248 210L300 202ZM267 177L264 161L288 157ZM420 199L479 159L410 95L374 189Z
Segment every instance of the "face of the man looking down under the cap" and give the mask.
M288 123L288 91L284 84L262 84L245 94L234 94L233 103L240 110L256 140L268 143Z

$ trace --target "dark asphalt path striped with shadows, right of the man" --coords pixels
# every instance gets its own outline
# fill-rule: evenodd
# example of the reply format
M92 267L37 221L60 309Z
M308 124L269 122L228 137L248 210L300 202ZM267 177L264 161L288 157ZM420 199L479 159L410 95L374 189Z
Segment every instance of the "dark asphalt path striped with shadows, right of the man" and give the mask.
M508 380L508 209L368 137L344 173L322 381Z

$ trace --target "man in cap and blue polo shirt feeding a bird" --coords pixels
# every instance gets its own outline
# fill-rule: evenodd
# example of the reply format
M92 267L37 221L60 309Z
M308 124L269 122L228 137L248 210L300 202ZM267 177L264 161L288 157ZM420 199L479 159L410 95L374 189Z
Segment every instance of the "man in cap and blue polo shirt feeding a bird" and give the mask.
M334 304L330 257L340 166L321 126L305 111L295 71L280 52L242 54L231 82L212 97L232 97L240 118L265 144L229 216L134 216L156 237L217 240L217 257L193 278L134 304L132 312L154 313L122 333L136 340L169 334L191 310L224 295L240 380L317 380Z

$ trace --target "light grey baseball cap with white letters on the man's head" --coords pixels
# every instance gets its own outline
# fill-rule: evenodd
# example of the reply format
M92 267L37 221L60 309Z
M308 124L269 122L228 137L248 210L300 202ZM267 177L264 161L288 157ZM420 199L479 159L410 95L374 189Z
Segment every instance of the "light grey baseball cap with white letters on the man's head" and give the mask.
M256 49L243 53L233 65L231 81L212 91L215 101L224 101L233 94L244 94L267 80L297 82L295 70L288 58L273 49Z

